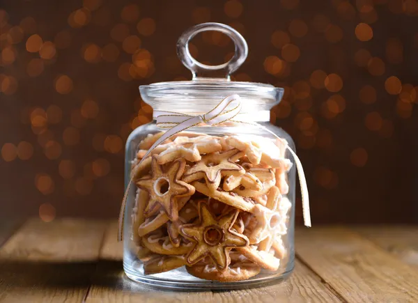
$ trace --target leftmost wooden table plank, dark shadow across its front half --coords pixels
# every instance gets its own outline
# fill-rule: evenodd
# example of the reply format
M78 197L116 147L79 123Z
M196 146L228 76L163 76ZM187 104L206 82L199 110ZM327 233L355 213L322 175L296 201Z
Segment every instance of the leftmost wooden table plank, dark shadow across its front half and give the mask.
M82 302L105 224L31 219L0 249L0 302Z

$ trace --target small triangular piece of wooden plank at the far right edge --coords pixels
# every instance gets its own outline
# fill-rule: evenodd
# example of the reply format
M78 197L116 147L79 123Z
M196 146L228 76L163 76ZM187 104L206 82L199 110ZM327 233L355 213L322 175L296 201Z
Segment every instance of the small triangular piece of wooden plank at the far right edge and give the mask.
M350 229L404 263L418 267L418 226L355 226Z

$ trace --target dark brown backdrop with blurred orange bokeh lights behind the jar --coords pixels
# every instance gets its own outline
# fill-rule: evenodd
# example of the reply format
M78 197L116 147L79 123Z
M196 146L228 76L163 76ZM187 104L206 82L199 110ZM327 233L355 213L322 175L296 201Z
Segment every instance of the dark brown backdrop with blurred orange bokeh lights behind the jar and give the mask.
M210 21L247 39L235 79L286 89L272 122L295 139L314 224L418 222L417 1L1 6L2 217L116 217L125 140L151 117L137 87L189 79L176 40ZM191 49L221 63L233 44L206 33Z

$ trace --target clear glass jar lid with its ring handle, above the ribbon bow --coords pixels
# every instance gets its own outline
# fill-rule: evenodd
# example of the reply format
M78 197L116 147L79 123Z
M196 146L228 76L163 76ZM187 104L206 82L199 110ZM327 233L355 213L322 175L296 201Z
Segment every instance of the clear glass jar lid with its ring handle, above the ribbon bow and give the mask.
M196 61L189 52L188 43L202 31L220 31L235 44L235 54L226 63L206 65ZM227 95L238 94L242 99L242 113L263 111L264 116L278 104L284 89L270 84L231 81L231 74L247 59L247 42L238 31L220 23L203 23L185 31L177 42L180 61L192 72L191 81L167 81L139 86L144 102L154 109L200 114L210 111ZM221 77L213 77L213 74ZM268 120L263 118L263 121Z

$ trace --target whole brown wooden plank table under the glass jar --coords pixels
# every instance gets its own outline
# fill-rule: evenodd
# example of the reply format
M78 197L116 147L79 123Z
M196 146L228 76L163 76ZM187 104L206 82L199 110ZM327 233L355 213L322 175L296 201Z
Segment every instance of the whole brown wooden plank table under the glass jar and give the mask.
M0 222L0 302L418 302L418 226L298 228L283 283L171 292L127 279L116 222Z

